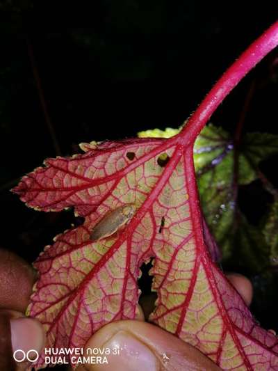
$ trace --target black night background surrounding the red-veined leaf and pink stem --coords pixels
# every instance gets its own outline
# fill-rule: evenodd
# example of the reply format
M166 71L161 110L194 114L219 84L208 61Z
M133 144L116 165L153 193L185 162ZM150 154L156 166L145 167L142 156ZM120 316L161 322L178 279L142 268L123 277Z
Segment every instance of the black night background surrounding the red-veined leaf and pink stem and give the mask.
M44 214L28 209L9 192L22 175L46 157L79 152L80 142L179 127L222 72L278 15L278 6L270 8L269 3L252 3L247 10L224 1L220 6L165 0L92 3L92 9L82 3L77 8L49 8L43 2L38 8L32 1L0 4L0 244L29 262L76 221L72 211ZM63 26L67 23L86 26ZM255 80L244 130L277 133L277 65L276 50L229 95L211 121L232 132ZM262 166L277 186L276 164L277 159ZM268 199L253 192L259 209L248 197L243 207L259 218ZM264 326L277 326L278 307L272 302L254 309Z

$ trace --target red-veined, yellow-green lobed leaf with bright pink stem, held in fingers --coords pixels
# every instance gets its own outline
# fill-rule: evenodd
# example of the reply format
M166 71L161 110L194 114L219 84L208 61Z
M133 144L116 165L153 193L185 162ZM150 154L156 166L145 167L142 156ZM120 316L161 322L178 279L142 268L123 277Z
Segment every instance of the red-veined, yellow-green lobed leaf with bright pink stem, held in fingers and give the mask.
M85 217L34 263L40 278L28 314L44 325L46 347L83 347L104 324L136 317L140 265L154 258L153 322L226 370L278 370L277 338L256 324L208 253L213 239L203 224L193 165L200 129L277 43L278 23L234 63L172 139L83 143L85 154L47 159L13 189L35 209L74 207ZM136 208L131 220L92 241L99 221L127 204ZM37 366L43 363L42 356Z

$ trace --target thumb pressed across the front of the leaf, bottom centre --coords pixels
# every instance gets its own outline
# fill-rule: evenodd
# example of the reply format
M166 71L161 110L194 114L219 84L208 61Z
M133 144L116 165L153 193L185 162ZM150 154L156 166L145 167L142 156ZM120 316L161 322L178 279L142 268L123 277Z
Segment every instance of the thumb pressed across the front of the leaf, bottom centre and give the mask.
M113 322L90 338L86 349L118 349L108 364L83 365L87 371L220 370L191 345L158 326L135 320Z

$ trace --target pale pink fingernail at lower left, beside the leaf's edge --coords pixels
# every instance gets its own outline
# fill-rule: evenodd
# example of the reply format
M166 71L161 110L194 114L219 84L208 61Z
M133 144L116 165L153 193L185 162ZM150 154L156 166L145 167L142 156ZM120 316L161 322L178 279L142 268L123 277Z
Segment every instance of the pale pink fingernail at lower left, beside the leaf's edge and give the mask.
M13 352L18 349L22 349L24 352L28 352L30 349L34 349L38 353L42 351L44 331L37 320L31 318L11 319L10 331Z

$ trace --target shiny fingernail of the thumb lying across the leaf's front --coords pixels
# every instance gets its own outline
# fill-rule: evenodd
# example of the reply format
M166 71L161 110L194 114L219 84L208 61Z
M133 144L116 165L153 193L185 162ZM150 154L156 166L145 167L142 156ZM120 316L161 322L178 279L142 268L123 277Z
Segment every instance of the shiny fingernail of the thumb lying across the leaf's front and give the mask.
M109 357L107 370L158 370L158 359L144 342L126 331L119 331L103 345L117 354Z

